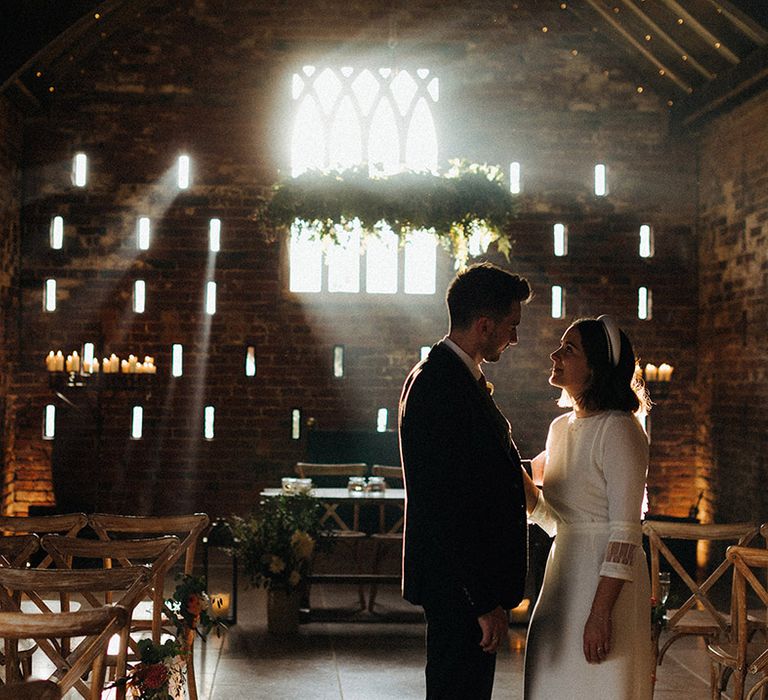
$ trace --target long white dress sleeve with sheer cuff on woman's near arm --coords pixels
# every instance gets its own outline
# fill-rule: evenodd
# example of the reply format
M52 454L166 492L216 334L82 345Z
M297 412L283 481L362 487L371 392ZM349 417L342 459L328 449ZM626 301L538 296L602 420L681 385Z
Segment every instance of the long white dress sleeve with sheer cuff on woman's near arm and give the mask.
M634 417L608 422L600 460L610 527L600 575L631 581L632 562L642 544L640 519L648 471L648 440Z

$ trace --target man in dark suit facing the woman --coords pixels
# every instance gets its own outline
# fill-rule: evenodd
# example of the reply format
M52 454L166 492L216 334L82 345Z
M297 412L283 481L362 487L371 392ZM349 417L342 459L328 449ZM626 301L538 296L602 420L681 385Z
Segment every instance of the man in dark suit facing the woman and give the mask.
M403 597L424 608L427 698L491 697L507 611L522 598L520 456L480 365L517 343L524 278L489 263L451 283L450 332L405 380Z

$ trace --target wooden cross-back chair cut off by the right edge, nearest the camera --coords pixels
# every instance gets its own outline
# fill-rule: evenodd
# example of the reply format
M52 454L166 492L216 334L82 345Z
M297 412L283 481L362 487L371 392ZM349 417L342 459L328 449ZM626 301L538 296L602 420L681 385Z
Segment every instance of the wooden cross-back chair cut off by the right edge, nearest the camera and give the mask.
M719 700L732 675L732 700L755 698L758 693L765 700L768 697L768 591L764 582L768 550L732 546L728 548L726 558L733 564L732 626L728 635L710 642L707 647L712 669L712 698ZM757 617L762 619L762 635L755 634L755 624L749 619L750 592L761 606ZM757 680L745 694L748 675Z

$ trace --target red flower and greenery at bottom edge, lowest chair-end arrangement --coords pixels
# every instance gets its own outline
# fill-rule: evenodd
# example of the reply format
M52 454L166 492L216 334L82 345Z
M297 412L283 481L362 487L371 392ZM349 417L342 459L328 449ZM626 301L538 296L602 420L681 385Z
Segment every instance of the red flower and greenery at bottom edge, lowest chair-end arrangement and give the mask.
M112 687L124 685L128 697L138 700L184 700L184 660L179 642L169 639L157 644L142 639L139 654L141 661Z

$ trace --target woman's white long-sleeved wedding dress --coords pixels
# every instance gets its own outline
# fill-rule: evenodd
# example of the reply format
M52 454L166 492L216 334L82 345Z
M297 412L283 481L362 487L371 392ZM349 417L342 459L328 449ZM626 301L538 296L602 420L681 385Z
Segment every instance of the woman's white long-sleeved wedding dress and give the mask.
M525 700L648 700L653 695L650 584L641 511L648 440L629 413L573 413L547 436L543 498L530 516L556 535L528 629ZM611 649L589 664L582 636L600 576L625 583Z

